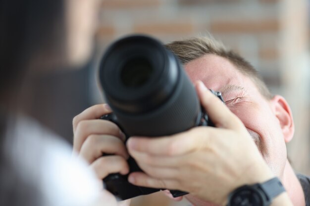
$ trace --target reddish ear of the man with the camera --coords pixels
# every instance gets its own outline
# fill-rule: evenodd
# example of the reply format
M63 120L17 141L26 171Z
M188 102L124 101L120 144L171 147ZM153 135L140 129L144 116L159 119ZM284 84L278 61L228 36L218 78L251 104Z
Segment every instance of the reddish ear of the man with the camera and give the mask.
M282 128L284 141L286 143L290 142L293 138L295 130L291 108L287 101L280 95L275 95L271 99L271 104L273 106L275 116L279 120Z

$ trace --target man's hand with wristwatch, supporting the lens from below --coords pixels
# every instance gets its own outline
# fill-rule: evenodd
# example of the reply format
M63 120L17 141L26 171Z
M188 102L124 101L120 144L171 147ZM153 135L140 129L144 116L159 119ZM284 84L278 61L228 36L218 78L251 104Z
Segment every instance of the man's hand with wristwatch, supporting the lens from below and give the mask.
M274 175L242 122L202 82L196 89L216 127L199 126L158 138L131 137L129 153L146 173L131 173L128 180L138 186L187 191L225 205L237 187Z

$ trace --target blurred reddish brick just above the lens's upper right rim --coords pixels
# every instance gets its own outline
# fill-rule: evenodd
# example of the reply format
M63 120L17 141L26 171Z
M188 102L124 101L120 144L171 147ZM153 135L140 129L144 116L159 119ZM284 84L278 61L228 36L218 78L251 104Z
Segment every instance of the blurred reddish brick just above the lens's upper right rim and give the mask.
M192 34L194 25L186 22L169 22L169 23L154 23L154 24L137 24L133 28L136 33L145 34Z

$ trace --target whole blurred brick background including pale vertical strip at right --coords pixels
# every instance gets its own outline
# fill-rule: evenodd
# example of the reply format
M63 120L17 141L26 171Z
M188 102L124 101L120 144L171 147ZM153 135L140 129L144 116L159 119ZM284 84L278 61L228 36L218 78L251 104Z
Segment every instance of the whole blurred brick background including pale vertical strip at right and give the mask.
M289 101L297 131L295 140L288 145L289 156L297 170L310 174L307 3L308 0L103 0L97 40L103 51L113 40L132 33L150 34L168 42L210 32L249 60L271 91Z

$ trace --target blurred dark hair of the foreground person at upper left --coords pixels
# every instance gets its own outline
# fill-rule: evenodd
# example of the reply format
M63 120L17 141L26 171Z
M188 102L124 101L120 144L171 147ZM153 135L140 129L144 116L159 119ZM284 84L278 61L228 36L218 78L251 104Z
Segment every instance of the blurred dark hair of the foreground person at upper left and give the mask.
M65 41L64 9L63 0L0 0L0 134L31 62Z

